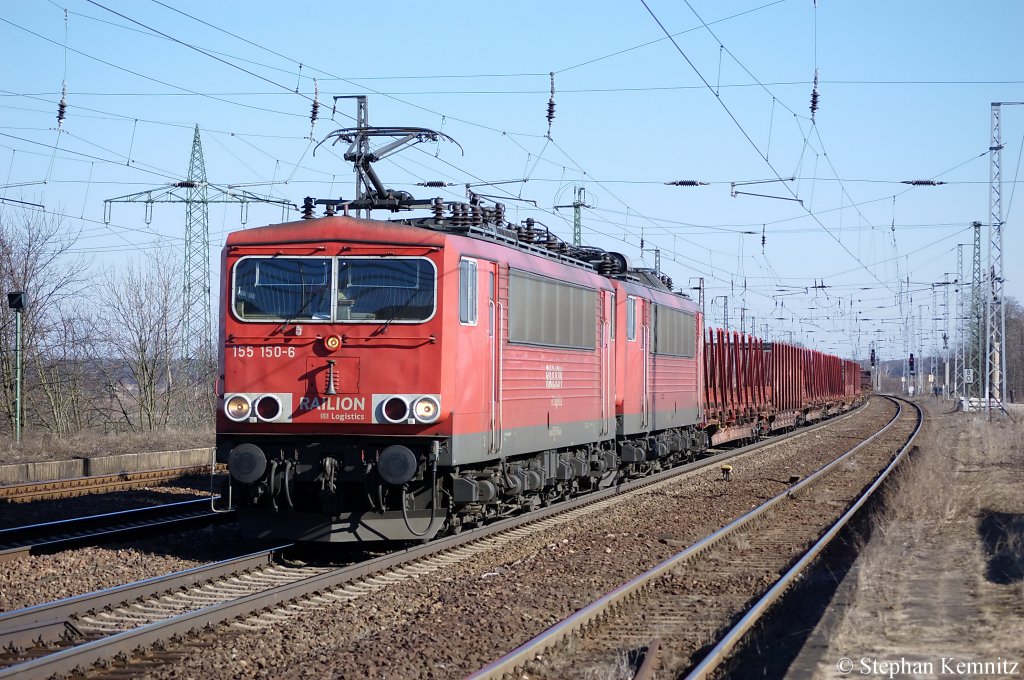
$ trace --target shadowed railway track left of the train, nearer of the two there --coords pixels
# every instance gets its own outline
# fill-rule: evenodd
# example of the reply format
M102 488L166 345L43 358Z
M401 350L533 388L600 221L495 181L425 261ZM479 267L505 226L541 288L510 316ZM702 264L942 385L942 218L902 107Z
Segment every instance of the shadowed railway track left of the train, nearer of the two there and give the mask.
M204 498L0 529L0 562L233 518L233 512L214 512L210 503Z

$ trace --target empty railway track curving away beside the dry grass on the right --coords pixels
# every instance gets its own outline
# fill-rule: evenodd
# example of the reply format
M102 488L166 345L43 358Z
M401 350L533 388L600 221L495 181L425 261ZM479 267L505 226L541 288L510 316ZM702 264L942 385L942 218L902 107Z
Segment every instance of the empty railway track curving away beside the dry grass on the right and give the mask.
M835 462L471 677L711 676L909 451L924 416L897 405Z

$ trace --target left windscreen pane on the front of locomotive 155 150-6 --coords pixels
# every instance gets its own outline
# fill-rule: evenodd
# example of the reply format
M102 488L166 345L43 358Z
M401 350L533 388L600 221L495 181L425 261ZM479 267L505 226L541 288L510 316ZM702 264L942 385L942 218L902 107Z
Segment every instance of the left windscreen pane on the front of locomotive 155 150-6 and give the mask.
M245 257L234 265L234 310L252 321L331 317L331 260Z

